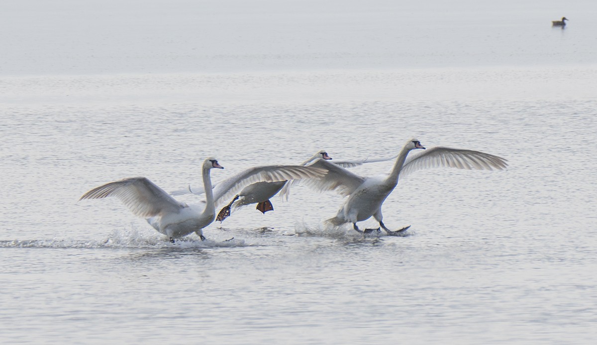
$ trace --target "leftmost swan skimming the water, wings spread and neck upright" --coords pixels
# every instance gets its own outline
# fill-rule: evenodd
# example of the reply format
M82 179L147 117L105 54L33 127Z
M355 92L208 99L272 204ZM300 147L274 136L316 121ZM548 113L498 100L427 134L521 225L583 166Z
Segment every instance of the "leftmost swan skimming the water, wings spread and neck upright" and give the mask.
M154 229L170 238L180 238L195 232L204 240L202 229L214 221L216 205L242 188L260 181L286 181L295 178L320 178L325 168L297 165L267 165L253 167L236 174L213 190L210 170L223 169L215 158L208 158L202 166L205 199L202 204L187 205L174 199L146 177L125 178L91 189L82 199L102 199L115 196L134 215L144 217Z

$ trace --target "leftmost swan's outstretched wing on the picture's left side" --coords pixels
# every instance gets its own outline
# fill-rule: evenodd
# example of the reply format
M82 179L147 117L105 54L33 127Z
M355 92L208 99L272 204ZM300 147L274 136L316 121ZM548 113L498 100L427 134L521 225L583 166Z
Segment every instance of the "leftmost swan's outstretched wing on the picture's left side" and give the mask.
M106 183L91 189L81 199L103 199L115 196L122 201L134 215L149 218L169 212L179 212L187 207L146 177L132 177Z

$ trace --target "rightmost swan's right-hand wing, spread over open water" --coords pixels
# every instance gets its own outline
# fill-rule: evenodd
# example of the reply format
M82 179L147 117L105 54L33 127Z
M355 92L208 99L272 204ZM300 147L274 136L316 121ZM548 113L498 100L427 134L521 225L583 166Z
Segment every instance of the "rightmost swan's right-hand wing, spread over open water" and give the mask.
M411 156L405 162L401 176L408 175L417 170L450 167L466 170L504 170L507 160L489 153L451 149L450 147L432 147L417 155Z

